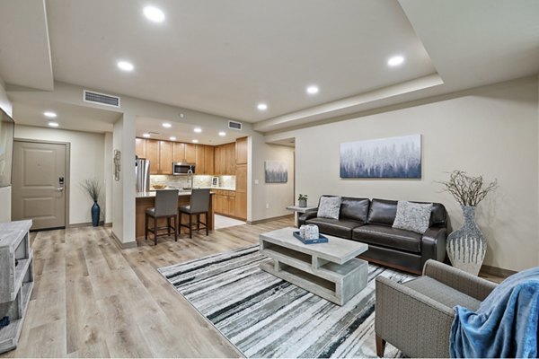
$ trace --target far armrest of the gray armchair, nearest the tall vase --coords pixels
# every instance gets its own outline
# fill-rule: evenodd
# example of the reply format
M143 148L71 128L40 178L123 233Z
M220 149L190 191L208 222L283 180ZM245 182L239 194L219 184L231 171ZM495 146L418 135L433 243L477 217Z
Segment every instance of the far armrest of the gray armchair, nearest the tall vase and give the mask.
M423 267L423 276L430 276L438 282L455 288L457 291L470 295L478 301L484 299L496 288L497 284L473 276L464 270L447 266L435 260L429 260Z

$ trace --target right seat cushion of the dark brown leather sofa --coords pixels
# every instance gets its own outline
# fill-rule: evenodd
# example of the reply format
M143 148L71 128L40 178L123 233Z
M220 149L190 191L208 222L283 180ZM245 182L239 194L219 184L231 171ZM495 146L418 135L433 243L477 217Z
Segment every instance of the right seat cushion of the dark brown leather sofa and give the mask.
M352 231L352 239L356 241L412 253L421 252L421 237L420 233L379 224L362 225Z

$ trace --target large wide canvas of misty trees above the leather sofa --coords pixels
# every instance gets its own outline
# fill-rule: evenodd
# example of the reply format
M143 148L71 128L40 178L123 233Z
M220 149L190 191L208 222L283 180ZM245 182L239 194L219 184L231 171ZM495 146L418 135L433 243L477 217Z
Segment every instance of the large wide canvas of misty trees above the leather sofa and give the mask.
M340 144L342 179L420 179L421 135Z

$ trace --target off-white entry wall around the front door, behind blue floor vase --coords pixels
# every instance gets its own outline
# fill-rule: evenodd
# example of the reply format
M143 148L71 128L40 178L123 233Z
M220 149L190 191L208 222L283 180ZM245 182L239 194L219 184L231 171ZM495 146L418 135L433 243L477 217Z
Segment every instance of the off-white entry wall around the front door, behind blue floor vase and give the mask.
M57 128L15 125L15 138L68 142L70 153L69 224L90 223L92 198L81 187L83 180L95 177L102 184L102 215L107 212L103 185L103 157L105 136L90 132Z

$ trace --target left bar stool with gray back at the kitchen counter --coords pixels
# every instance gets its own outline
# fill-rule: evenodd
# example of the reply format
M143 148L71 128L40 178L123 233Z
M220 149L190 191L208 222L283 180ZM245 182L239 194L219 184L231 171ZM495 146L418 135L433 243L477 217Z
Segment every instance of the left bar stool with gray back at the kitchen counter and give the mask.
M148 228L150 217L154 218L153 230ZM157 227L157 220L166 218L166 226ZM174 226L171 225L171 218L174 220ZM155 192L155 207L146 208L145 239L148 240L148 232L154 233L154 243L157 244L157 231L166 229L167 233L159 235L171 235L171 229L174 230L174 241L178 241L178 189L163 189Z

